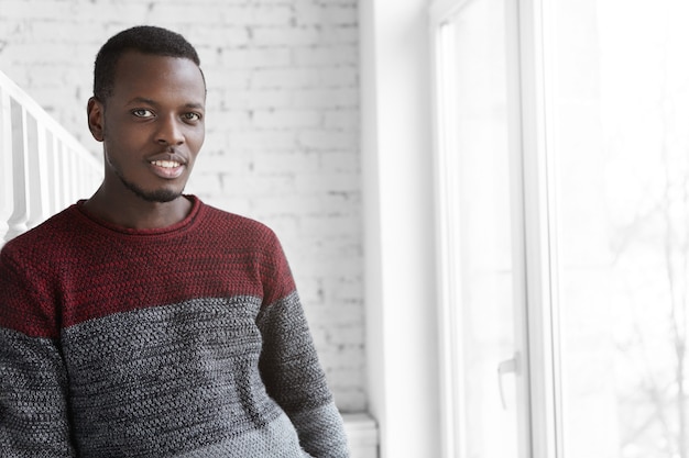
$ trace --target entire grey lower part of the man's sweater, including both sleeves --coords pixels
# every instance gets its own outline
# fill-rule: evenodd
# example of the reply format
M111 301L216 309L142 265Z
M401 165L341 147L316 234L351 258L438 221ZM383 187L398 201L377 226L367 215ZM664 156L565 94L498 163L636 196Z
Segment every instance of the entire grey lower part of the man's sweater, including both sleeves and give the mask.
M347 457L296 292L261 306L142 309L61 343L0 328L0 456Z

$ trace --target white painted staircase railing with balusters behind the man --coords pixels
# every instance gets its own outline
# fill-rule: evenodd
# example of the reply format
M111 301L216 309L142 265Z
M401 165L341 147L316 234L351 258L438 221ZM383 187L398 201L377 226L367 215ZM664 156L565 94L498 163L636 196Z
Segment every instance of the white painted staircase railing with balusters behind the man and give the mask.
M101 180L99 159L0 71L0 246Z

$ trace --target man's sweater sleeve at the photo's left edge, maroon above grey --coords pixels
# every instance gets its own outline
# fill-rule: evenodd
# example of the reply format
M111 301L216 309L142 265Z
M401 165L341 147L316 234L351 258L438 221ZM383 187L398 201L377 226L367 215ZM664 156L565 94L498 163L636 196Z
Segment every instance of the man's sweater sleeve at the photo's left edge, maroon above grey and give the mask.
M36 306L26 276L0 259L0 455L74 457L57 338L36 333L45 304Z

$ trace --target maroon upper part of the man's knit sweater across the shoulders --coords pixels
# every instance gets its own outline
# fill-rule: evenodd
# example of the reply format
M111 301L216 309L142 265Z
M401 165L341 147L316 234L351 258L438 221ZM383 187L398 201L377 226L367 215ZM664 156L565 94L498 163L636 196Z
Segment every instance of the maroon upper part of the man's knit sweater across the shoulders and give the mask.
M63 327L196 298L252 295L263 306L294 290L273 232L194 199L185 221L133 231L75 204L9 242L0 262L0 326L57 337Z

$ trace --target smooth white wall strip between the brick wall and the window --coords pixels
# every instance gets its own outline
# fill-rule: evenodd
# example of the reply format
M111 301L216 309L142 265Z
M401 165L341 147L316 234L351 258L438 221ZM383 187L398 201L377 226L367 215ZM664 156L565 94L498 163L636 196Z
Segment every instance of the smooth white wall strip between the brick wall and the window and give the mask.
M440 456L426 3L360 3L369 401L383 458Z

